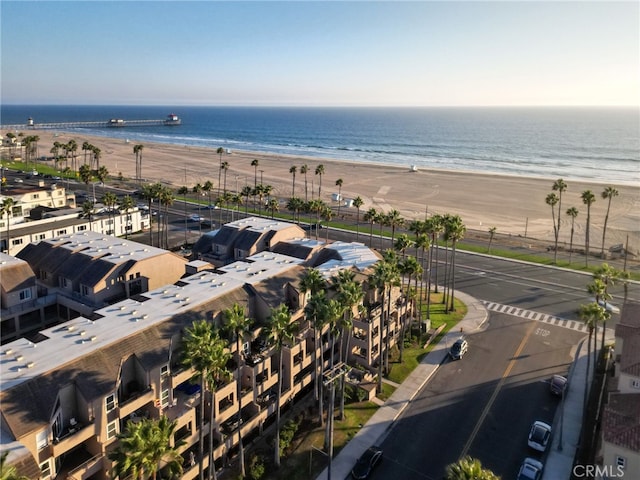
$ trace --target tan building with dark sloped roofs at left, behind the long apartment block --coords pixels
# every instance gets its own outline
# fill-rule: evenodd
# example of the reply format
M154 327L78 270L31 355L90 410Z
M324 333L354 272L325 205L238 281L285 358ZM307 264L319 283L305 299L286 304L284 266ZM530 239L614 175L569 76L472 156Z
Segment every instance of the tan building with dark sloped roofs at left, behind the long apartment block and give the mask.
M30 243L2 262L3 343L173 283L186 264L166 250L92 231Z

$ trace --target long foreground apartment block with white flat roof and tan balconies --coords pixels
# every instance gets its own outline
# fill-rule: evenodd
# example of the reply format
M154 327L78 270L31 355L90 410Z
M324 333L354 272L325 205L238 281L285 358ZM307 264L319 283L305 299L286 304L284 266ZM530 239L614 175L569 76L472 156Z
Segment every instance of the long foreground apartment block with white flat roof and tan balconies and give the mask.
M46 248L82 250L77 236L69 242L66 246L48 242ZM325 278L348 268L363 280L367 294L362 308L354 307L353 312L362 324L377 325L380 318L372 315L381 314L376 308L379 292L367 284L376 255L363 245L339 244L327 256L330 259L324 263L331 262L329 265L316 263ZM340 342L332 349L329 325L316 336L306 318L309 292L302 289L301 279L307 268L303 259L271 251L218 269L195 260L186 266L190 275L177 281L46 328L30 340L5 344L0 351L0 429L2 449L10 451L9 464L34 479L106 480L112 470L108 454L116 446L117 434L128 422L164 415L177 422L174 441L182 442L178 450L185 460L183 478L191 480L198 475L198 466L189 459L191 454L198 455L199 418L204 408L205 450L212 423L214 459L220 468L237 452L240 436L247 444L273 423L279 378L284 406L312 390L316 358L321 359L323 371L332 358L339 358ZM34 271L37 275L38 269ZM327 291L332 295L330 283ZM396 323L410 312L399 288L392 289L391 295L387 331L398 332ZM266 341L264 327L272 309L283 303L297 325L297 334L284 346L279 369L278 352ZM224 310L236 304L253 320L251 330L242 339L240 351L222 330L229 340L233 375L218 383L212 396L200 390L197 373L183 365L183 336L200 319L224 327ZM386 332L368 332L364 348L371 363L361 368L375 373L377 346L384 344ZM396 335L389 343L397 341ZM353 346L352 352L359 354L361 348ZM205 458L205 467L207 462Z

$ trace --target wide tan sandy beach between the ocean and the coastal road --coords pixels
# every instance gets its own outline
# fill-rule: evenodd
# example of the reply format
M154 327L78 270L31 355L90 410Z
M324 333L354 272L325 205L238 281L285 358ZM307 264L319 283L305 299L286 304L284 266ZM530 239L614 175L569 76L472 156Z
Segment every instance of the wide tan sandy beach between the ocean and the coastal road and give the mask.
M100 164L109 173L124 177L135 176L133 142L83 135L81 132L30 131L38 135L39 155L49 155L54 141L66 143L74 139L78 143L77 157L81 163L83 142L101 149ZM147 182L162 182L189 188L196 183L211 181L218 186L220 155L215 149L192 146L143 143L142 176ZM257 169L251 162L258 160ZM332 159L297 157L256 152L232 151L222 154L222 161L229 163L226 175L227 190L253 187L254 181L273 187L273 194L281 198L292 195L293 177L289 173L297 167L295 195L305 197L305 176L302 165L308 166L307 194L312 189L317 196L320 176L315 175L318 165L324 165L322 175L322 199L332 205L332 194L338 192L336 180L342 179L343 198L360 196L364 200L361 212L369 208L398 210L406 219L423 219L425 213L451 213L460 215L467 229L484 230L495 227L497 233L553 240L551 208L545 203L556 178L529 178L520 176L479 174L473 172L427 170L411 171L404 167L379 164L353 163ZM257 177L257 178L256 178ZM224 182L224 174L221 183ZM607 200L601 198L606 184L586 183L565 179L567 191L562 197L562 224L560 241L569 242L571 219L564 212L576 207L574 244L585 240L586 205L580 195L591 190L596 196L591 206L591 250L599 250L602 244L602 227L607 212ZM638 253L640 249L640 186L613 185L619 196L611 202L606 235L606 246L624 244ZM355 209L351 209L354 210Z

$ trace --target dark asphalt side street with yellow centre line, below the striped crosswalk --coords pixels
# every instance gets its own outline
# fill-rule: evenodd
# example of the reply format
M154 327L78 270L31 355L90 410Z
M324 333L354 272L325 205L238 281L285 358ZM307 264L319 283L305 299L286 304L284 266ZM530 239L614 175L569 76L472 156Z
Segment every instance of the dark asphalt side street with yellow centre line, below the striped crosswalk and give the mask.
M468 337L469 351L447 361L382 443L384 461L372 478L441 479L461 455L515 478L526 456L531 423L553 423L559 400L548 379L566 374L583 333L492 314ZM578 388L578 386L573 386Z

